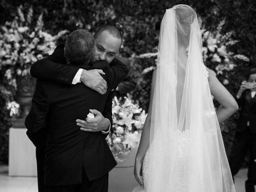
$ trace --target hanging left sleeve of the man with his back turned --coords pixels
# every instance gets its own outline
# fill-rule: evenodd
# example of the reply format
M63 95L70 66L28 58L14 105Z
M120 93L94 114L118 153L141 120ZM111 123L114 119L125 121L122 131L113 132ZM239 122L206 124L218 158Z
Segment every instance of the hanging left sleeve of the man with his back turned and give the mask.
M36 147L41 146L46 141L48 111L48 98L41 84L37 82L36 91L32 98L32 107L25 119L28 138Z

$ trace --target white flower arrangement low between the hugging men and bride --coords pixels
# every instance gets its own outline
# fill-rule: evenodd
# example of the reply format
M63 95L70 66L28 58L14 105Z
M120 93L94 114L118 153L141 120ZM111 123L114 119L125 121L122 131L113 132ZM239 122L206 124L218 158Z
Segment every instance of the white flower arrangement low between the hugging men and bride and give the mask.
M123 162L125 155L138 146L146 113L128 97L124 102L114 97L112 113L113 126L106 140L115 159Z

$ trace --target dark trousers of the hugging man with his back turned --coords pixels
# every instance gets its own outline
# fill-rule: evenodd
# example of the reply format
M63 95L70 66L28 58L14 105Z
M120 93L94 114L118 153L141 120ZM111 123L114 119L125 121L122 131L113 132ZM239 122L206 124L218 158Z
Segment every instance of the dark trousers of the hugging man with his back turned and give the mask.
M81 184L47 186L47 192L108 192L108 174L89 181L84 168L82 168Z

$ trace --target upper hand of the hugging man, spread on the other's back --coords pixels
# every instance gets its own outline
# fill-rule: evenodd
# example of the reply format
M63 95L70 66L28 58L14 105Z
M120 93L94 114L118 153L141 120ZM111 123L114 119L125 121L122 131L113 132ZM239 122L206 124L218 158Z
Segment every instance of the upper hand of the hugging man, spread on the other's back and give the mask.
M100 69L93 70L83 70L80 81L87 87L99 92L100 94L105 94L107 91L107 82L100 75L105 73Z

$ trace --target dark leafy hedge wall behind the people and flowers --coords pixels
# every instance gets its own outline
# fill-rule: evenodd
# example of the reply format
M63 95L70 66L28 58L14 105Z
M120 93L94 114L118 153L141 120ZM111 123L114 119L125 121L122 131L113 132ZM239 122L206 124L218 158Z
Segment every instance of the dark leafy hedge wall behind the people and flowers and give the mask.
M148 72L144 70L154 66L155 58L140 58L139 55L155 51L154 48L157 46L155 22L162 18L165 9L181 3L194 8L202 18L204 28L212 33L218 30L217 27L224 20L222 29L219 31L220 36L232 32L231 37L238 41L234 46L228 46L228 51L233 52L234 55L243 54L250 58L250 62L236 60L236 67L227 72L227 77L218 76L221 81L223 78L228 80L225 86L235 95L248 69L254 67L256 63L255 0L1 0L0 25L11 21L16 16L17 7L20 5L25 10L33 6L35 20L32 23L36 24L36 18L43 14L44 28L52 35L58 34L60 30L72 31L79 28L94 33L103 24L116 24L124 36L120 54L131 57L132 67L138 79L137 89L132 95L134 100L138 100L140 106L147 111L152 70ZM209 64L208 67L216 71L216 65ZM1 84L3 79L4 77L1 76ZM1 99L6 102L2 92L0 95ZM6 110L1 108L0 113L4 116L1 119L0 129L4 126L9 127L10 121L4 115ZM234 117L222 128L227 153L234 135ZM5 134L0 132L1 141L2 138L7 138L6 132ZM8 148L8 145L6 147ZM4 150L8 152L6 147ZM7 157L8 154L1 155L0 152L0 161L7 162Z

